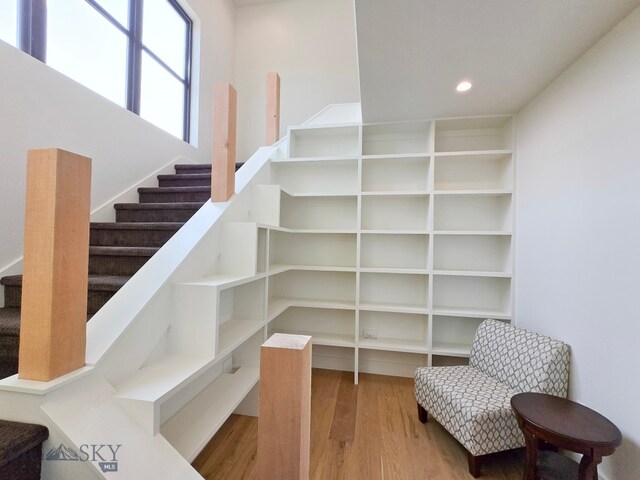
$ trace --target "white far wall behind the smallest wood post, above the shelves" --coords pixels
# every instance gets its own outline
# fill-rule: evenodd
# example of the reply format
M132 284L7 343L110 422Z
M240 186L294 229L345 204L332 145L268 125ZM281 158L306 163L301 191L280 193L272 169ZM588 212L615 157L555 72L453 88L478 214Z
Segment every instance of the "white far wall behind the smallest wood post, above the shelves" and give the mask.
M265 77L281 80L281 136L331 103L358 102L353 0L285 0L236 13L238 159L264 142Z

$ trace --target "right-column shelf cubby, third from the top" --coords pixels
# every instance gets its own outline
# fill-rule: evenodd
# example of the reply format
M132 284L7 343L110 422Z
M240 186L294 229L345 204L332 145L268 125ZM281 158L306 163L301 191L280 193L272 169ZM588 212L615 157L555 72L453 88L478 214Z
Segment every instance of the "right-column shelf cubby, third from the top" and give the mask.
M433 215L434 231L510 232L511 195L436 195Z

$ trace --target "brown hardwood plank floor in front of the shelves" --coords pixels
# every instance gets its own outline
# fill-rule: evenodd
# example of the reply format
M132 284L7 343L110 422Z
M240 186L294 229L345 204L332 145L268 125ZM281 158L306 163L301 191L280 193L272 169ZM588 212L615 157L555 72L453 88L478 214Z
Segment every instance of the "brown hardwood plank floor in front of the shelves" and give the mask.
M258 419L232 415L196 458L207 480L257 479ZM489 456L483 480L520 480L523 453ZM418 421L413 379L313 370L312 480L470 480L464 449Z

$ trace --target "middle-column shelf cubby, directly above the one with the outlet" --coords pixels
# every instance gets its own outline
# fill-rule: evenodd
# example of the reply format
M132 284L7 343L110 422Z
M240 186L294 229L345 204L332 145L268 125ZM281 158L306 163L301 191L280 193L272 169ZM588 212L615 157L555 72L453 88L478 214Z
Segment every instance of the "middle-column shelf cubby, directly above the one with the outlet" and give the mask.
M426 313L429 277L425 274L360 274L360 309Z

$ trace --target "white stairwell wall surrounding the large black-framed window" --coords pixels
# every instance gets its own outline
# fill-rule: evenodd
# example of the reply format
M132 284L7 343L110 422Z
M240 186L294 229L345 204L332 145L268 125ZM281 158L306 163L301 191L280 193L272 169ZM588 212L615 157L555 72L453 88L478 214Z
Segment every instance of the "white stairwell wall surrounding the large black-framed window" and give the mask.
M0 272L15 273L7 267L22 256L28 149L60 147L91 157L92 209L177 157L210 161L211 86L233 80L235 6L189 5L196 17L197 148L0 41Z

